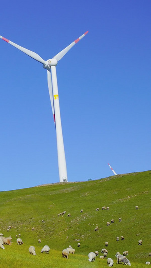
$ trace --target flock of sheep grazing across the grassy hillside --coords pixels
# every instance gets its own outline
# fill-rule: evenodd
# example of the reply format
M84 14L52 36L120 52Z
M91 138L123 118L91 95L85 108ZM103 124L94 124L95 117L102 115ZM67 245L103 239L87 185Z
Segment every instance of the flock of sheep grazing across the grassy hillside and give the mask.
M109 210L109 207L105 207L105 206L102 207L102 210L106 210L106 209ZM138 206L136 206L136 209L138 209ZM99 211L99 208L97 208L96 211ZM83 209L81 209L80 212L82 213L82 212L83 212ZM58 216L62 216L62 215L64 215L65 213L66 213L66 211L61 212L61 213L58 214ZM68 216L68 217L71 217L71 214L69 213L67 216ZM119 221L121 221L121 218L119 218ZM42 220L42 222L44 222L44 220ZM112 224L112 223L114 223L114 219L111 220L111 224ZM107 222L107 226L109 226L109 225L110 225L110 222ZM11 229L11 225L8 226L7 231L9 231L10 229ZM32 231L34 231L34 229L35 229L35 228L33 227L33 228L32 228ZM98 226L96 226L95 231L97 231L98 229L99 229ZM21 234L16 235L16 238L17 238L18 236L20 237ZM124 237L123 237L123 236L121 236L121 240L124 240ZM11 237L11 236L9 236L9 237L3 237L3 234L0 233L0 248L5 249L5 248L4 248L4 245L11 245L11 241L12 241L12 237ZM116 241L119 241L119 237L118 237L118 236L116 237ZM21 238L17 238L16 242L17 242L18 245L22 245L22 244L23 244L23 241L22 241ZM41 239L38 239L38 243L41 243ZM78 247L80 247L80 245L81 245L80 243L77 244ZM142 245L142 240L139 240L139 241L138 241L138 245ZM108 247L108 242L105 242L105 247L106 247L106 248ZM49 248L48 245L45 245L45 246L41 249L41 253L45 252L45 253L48 254L49 251L50 251L50 248ZM35 247L34 247L34 246L30 246L30 247L29 247L29 253L32 254L32 255L34 255L34 256L36 256L36 252L35 252ZM75 249L72 248L71 246L69 246L69 247L66 248L66 249L63 249L63 251L62 251L62 257L68 259L70 253L71 253L71 254L74 254L74 253L75 253ZM105 249L105 248L103 248L103 249L101 250L101 253L102 253L103 255L100 256L100 259L104 259L104 258L106 258L107 255L108 255L108 250ZM90 262L93 262L93 261L95 261L96 256L98 256L98 255L99 255L99 252L98 252L98 251L90 252L90 253L88 254L88 260L89 260ZM130 261L129 261L129 260L127 259L127 257L126 257L127 255L128 255L128 251L124 251L124 252L123 252L123 255L121 255L119 252L117 252L116 255L115 255L116 258L117 258L117 264L119 264L119 263L121 262L121 263L123 263L123 264L125 264L125 265L129 265L129 266L131 266ZM149 255L151 256L151 252L149 253ZM114 264L113 259L111 259L111 258L107 258L107 264L108 264L109 267L112 267L113 264ZM147 261L145 264L146 264L146 265L150 265L150 262Z

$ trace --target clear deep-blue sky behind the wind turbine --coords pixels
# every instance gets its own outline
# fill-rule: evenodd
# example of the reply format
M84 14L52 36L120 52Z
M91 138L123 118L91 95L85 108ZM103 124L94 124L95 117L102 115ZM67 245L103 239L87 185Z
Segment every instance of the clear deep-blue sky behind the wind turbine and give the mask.
M150 170L150 0L3 1L0 35L57 65L68 181ZM0 39L0 190L59 182L42 64Z

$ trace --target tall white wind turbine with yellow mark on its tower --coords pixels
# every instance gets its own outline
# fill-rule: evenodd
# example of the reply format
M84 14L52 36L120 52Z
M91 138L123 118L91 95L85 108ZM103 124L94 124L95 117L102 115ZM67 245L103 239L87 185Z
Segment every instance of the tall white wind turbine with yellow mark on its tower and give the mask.
M69 46L64 48L61 52L55 55L52 59L48 59L45 61L42 59L37 53L28 50L24 47L21 47L12 41L6 39L5 37L0 35L0 38L11 44L12 46L18 48L31 58L39 61L43 64L43 68L47 70L47 81L49 88L49 95L52 107L52 113L54 118L54 123L56 127L56 138L57 138L57 152L58 152L58 167L59 167L59 178L60 182L67 182L67 169L66 169L66 159L65 159L65 151L64 151L64 142L62 135L62 125L61 125L61 116L60 116L60 105L59 105L59 95L58 95L58 86L57 86L57 76L56 76L56 65L60 59L64 57L64 55L75 45L77 44L86 34L85 32L78 39L72 42ZM51 79L52 78L52 79Z

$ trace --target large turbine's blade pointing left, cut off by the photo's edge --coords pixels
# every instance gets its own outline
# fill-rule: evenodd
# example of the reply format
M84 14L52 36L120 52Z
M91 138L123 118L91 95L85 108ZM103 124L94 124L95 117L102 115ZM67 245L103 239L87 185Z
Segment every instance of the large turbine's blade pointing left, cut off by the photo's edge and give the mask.
M11 44L12 46L18 48L19 50L21 50L22 52L24 52L25 54L27 54L27 55L30 56L31 58L33 58L33 59L39 61L39 62L42 63L42 64L45 64L45 60L42 59L37 53L35 53L35 52L31 51L31 50L28 50L28 49L26 49L26 48L24 48L24 47L21 47L21 46L19 46L19 45L13 43L12 41L6 39L5 37L3 37L3 36L1 36L1 35L0 35L0 38L1 38L2 40L6 41L7 43Z

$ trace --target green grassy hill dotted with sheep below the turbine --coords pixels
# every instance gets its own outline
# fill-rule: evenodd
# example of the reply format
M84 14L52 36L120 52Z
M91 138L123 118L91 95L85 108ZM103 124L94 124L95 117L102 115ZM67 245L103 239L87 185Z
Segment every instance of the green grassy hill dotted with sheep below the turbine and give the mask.
M116 252L122 254L125 250L129 251L127 258L132 267L145 267L146 261L151 262L150 180L151 171L146 171L0 192L0 233L13 238L11 246L0 250L3 267L106 267L107 259L99 258L106 241L108 257L113 258L115 267ZM102 210L103 206L109 206L109 210ZM58 216L63 211L66 214ZM115 223L106 226L111 219ZM7 232L9 225L12 228ZM94 231L96 226L98 231ZM22 246L16 244L19 233ZM125 240L117 242L116 237L121 235ZM142 246L138 246L138 240L143 240ZM81 247L77 247L78 242ZM37 256L29 254L31 245ZM49 255L40 253L44 245L49 245ZM69 245L76 252L67 260L61 254ZM89 263L88 253L96 250L99 256Z

